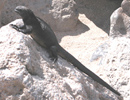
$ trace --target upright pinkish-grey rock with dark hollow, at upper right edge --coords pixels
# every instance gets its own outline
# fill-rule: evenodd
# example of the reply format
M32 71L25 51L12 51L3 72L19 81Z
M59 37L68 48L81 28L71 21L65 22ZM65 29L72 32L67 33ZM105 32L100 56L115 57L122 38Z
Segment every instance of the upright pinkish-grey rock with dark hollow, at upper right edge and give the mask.
M124 0L121 7L111 15L110 36L130 37L130 0Z

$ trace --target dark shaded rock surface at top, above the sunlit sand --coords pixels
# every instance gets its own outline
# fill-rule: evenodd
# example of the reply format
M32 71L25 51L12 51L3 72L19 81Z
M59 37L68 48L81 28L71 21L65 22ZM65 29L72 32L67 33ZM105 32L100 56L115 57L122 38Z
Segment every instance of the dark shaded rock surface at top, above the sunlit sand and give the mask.
M77 11L85 14L88 19L103 31L109 33L110 16L121 6L122 0L76 0Z

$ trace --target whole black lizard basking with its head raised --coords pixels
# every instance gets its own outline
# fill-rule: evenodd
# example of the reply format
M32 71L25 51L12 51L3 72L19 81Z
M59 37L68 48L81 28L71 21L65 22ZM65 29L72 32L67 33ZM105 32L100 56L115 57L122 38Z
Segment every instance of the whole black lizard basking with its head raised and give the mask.
M21 27L18 27L16 25L11 24L11 27L13 27L19 32L31 35L31 37L38 44L40 44L42 47L45 47L49 51L49 54L51 55L51 58L53 60L56 61L58 59L57 55L60 55L61 57L63 57L64 59L72 63L80 71L90 76L93 80L105 86L106 88L114 92L115 94L119 96L121 95L119 92L113 89L109 84L107 84L105 81L99 78L96 74L94 74L84 65L82 65L71 54L65 51L59 45L56 39L56 36L54 32L52 31L52 29L50 28L50 26L39 17L36 17L30 9L24 6L17 6L15 8L15 12L17 12L22 17L24 25Z

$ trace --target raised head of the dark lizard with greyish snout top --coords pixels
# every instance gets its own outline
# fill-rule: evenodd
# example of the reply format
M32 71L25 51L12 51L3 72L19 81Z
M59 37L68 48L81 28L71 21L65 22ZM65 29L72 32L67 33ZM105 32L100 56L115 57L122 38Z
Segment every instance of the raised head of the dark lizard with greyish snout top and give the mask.
M33 17L33 12L25 6L17 6L15 12L18 13L23 19L27 17Z

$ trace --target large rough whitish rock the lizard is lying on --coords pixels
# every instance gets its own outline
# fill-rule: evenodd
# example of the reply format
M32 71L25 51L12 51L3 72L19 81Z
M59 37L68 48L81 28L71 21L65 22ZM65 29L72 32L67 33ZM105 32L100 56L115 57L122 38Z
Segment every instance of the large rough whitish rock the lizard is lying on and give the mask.
M0 100L120 100L62 58L53 64L30 36L9 25L0 29L0 51Z

